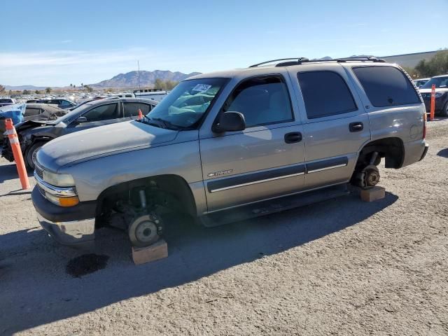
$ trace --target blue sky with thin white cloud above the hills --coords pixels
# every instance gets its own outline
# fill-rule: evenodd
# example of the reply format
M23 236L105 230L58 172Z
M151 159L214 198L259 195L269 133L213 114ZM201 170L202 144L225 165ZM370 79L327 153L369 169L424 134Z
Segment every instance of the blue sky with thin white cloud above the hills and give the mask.
M137 61L190 73L448 47L448 0L15 0L0 10L2 85L97 83Z

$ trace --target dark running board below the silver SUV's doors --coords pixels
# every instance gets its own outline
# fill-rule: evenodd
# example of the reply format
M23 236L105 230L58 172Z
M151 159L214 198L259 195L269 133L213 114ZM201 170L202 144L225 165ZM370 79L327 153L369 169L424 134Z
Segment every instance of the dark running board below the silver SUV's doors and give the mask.
M313 204L330 200L335 197L349 195L350 192L347 184L340 184L328 188L322 188L309 192L304 192L296 195L277 198L274 200L267 200L258 203L248 204L235 209L228 209L223 211L216 211L212 214L201 216L197 218L202 225L211 228L227 223L243 221L245 219L264 216L267 214L274 214L276 212L303 207L305 205Z

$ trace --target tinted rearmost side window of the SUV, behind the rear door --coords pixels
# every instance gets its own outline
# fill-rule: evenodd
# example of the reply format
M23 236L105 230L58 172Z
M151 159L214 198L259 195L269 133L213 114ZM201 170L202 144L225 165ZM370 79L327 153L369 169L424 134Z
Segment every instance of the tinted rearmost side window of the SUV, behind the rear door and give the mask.
M373 106L419 104L414 85L393 66L359 66L353 72Z

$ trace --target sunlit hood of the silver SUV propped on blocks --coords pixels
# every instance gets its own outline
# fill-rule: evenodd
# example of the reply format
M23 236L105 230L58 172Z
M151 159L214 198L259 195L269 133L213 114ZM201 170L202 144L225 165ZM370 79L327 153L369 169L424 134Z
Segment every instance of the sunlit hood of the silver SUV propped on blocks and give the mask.
M164 144L176 139L178 133L135 120L94 127L50 141L38 151L37 161L56 172L73 162Z

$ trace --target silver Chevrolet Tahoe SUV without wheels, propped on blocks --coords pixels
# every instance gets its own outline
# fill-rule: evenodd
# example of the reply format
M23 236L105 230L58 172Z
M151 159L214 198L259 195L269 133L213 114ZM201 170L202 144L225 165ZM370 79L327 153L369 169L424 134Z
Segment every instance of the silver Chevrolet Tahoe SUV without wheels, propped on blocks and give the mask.
M113 223L134 246L168 212L206 225L371 188L422 160L425 106L381 59L280 59L183 80L142 120L59 137L36 157L39 221L63 244ZM324 206L324 205L323 205Z

